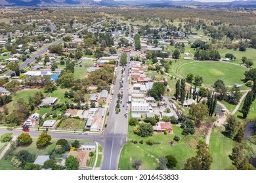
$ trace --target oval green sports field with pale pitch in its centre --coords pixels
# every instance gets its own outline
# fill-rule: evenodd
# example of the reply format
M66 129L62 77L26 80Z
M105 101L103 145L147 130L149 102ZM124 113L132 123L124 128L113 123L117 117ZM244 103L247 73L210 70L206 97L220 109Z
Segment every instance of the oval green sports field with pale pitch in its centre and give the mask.
M217 79L221 79L228 86L241 84L245 71L247 69L239 65L220 62L191 62L178 69L184 78L192 73L194 76L203 76L203 84L212 85Z

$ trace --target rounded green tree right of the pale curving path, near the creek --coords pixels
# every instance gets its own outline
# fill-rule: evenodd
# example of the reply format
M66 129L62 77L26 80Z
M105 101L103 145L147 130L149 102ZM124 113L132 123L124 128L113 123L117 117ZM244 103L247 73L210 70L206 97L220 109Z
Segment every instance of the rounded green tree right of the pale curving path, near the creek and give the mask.
M238 131L238 121L236 119L236 116L234 115L228 115L228 118L226 118L226 125L225 125L225 132L228 135L228 137L233 138L234 135L236 135Z

